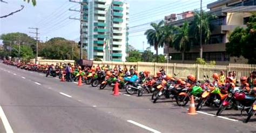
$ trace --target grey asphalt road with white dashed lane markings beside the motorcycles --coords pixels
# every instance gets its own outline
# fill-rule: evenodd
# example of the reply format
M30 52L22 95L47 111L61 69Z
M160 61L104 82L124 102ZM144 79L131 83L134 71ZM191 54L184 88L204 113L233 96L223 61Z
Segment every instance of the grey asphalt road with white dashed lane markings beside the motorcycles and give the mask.
M0 71L0 106L14 132L256 131L255 116L254 122L245 124L201 113L188 115L187 107L164 100L152 104L147 95L114 97L111 88L78 87L2 63Z

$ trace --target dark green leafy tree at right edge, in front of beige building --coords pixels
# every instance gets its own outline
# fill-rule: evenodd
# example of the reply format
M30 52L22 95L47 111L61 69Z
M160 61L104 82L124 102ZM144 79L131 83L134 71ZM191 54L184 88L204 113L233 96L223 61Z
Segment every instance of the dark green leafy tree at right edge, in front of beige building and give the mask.
M253 14L247 28L235 28L229 36L226 51L231 56L244 56L248 63L256 64L256 14Z

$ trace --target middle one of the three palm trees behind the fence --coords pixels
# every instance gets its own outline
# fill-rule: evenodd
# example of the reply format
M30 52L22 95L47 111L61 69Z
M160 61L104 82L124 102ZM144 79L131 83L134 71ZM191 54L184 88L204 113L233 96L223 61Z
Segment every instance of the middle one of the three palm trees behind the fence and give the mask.
M184 23L183 27L177 27L177 34L175 35L173 46L174 49L178 50L182 54L182 62L184 63L185 51L189 51L191 47L190 36L189 36L190 25L187 22Z

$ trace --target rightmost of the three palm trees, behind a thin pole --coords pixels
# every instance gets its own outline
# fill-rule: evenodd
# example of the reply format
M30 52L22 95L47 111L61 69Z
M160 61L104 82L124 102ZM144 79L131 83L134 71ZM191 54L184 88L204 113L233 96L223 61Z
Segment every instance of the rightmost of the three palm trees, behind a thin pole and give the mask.
M192 25L190 26L190 36L193 37L193 44L197 45L200 43L200 21L202 28L202 44L200 45L200 58L203 58L203 45L206 44L211 35L212 26L210 24L211 20L216 18L212 14L202 11L202 16L200 16L200 11L195 11L194 19Z

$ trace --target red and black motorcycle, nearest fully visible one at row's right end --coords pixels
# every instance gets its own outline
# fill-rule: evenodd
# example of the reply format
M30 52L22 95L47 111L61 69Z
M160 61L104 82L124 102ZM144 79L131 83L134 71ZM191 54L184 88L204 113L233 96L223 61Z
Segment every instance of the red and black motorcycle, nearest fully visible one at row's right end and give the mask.
M216 115L219 116L228 106L233 104L233 107L242 112L245 110L249 114L249 110L255 101L255 97L248 95L244 90L240 90L239 87L235 87L227 95L227 98L223 101L223 104L219 107Z

